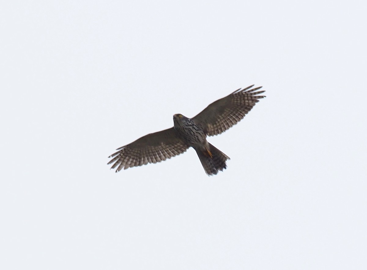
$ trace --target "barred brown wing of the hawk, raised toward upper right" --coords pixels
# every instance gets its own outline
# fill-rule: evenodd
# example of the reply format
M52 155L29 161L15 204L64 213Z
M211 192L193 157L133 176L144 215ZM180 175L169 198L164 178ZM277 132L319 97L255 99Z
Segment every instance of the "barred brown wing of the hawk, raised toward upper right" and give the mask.
M218 99L196 115L193 121L203 127L208 136L218 135L236 125L265 96L257 96L265 91L258 91L262 86L237 89L232 94Z

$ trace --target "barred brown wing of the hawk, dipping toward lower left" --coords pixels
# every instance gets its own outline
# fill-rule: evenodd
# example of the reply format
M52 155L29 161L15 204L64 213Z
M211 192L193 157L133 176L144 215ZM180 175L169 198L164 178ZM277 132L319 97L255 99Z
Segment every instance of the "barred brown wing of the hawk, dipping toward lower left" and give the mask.
M173 127L156 133L145 135L131 144L118 148L115 154L109 156L112 158L109 163L111 169L116 169L116 173L122 168L124 170L142 166L148 163L157 163L172 156L185 152L189 146L180 139Z

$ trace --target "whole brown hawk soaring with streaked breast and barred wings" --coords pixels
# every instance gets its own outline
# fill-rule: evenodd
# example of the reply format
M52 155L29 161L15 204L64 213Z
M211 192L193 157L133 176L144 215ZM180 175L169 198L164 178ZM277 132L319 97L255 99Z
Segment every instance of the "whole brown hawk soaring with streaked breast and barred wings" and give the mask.
M206 137L218 135L236 125L265 96L257 91L261 87L237 89L230 95L218 99L193 118L182 114L173 116L174 126L156 133L150 133L138 140L118 148L108 164L113 164L116 173L170 159L185 152L189 147L195 149L207 175L217 174L226 169L229 156L208 143Z

